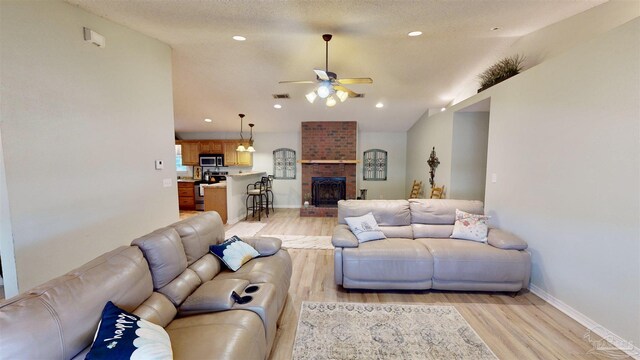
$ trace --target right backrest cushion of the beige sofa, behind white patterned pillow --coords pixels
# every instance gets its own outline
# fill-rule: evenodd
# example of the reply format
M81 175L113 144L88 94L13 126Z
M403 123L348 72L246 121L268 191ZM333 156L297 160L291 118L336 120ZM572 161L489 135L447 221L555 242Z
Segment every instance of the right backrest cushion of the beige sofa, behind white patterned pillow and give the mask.
M482 201L478 200L409 199L409 206L412 224L453 225L456 209L472 214L484 214Z

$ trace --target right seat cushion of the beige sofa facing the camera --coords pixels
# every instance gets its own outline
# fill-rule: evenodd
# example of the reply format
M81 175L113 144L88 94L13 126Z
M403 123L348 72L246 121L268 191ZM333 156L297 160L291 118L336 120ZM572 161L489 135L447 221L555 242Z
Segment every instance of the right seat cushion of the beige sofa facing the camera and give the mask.
M455 239L416 239L433 256L433 279L479 282L522 281L528 274L526 254L485 243Z

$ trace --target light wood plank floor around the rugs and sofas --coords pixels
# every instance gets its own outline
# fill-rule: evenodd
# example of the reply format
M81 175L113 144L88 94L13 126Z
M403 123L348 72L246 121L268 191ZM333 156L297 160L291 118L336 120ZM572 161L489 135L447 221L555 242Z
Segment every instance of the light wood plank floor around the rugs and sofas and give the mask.
M335 218L300 218L298 210L276 209L258 234L331 235ZM332 250L288 250L293 260L289 301L280 319L271 360L291 358L303 301L452 305L500 359L610 359L592 351L588 329L538 296L453 291L345 290L333 279ZM591 340L600 339L591 334ZM619 357L624 358L620 352Z

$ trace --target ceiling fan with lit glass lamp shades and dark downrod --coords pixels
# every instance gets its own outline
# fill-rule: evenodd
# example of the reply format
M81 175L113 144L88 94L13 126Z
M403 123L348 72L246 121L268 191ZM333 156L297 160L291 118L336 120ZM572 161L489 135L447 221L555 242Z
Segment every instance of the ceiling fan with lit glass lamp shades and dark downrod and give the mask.
M322 35L322 39L325 41L325 69L314 69L316 73L316 80L300 80L300 81L280 81L280 84L315 84L318 83L318 87L312 92L305 95L310 103L313 103L316 98L327 99L327 106L334 106L338 100L344 102L349 97L362 97L344 85L351 84L372 84L371 78L345 78L338 79L338 75L329 71L329 41L333 36L331 34Z

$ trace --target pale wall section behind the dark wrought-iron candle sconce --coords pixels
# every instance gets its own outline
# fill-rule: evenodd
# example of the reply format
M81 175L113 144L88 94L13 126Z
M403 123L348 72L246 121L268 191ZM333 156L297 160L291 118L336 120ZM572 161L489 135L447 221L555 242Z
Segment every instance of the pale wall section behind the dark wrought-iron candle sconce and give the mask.
M453 113L449 110L432 116L422 115L407 132L406 189L411 190L414 180L422 181L420 197L429 197L429 165L427 160L435 146L440 165L436 168L436 186L451 187L451 149L453 147Z

